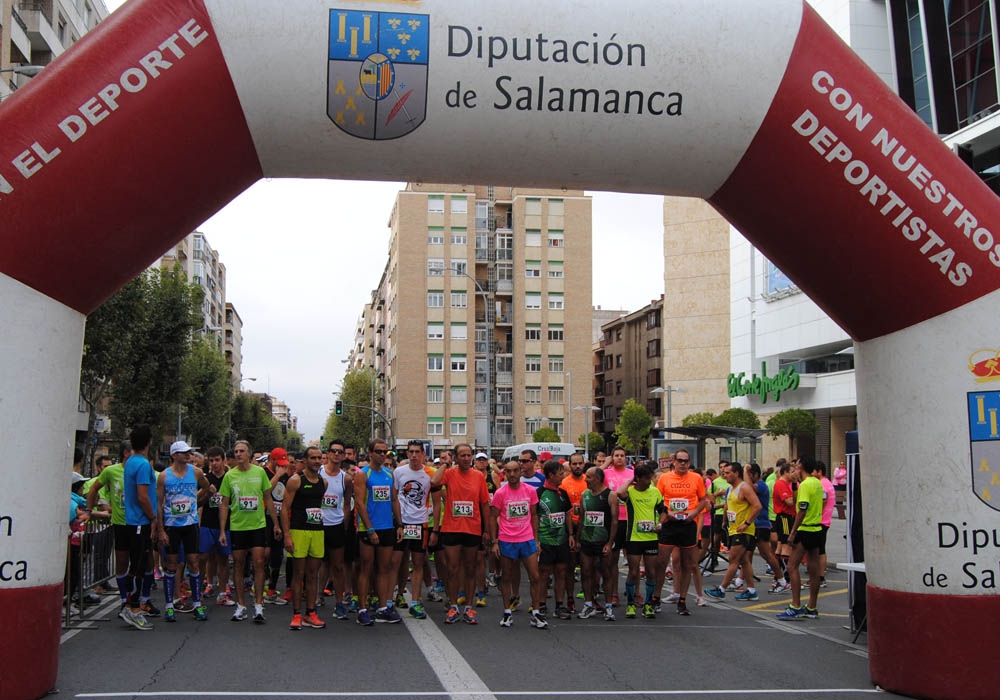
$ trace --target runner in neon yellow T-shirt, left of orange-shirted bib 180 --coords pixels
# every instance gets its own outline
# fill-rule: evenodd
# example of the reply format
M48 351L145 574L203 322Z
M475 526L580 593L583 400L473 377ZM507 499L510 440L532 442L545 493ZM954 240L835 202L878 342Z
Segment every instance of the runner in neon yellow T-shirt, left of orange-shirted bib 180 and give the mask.
M615 452L618 448L615 448ZM666 520L663 510L663 496L657 489L650 488L653 468L640 464L635 468L635 478L618 488L618 500L623 501L627 512L627 539L625 555L628 560L628 578L625 580L625 617L635 617L635 589L639 583L639 564L646 568L646 598L642 616L656 617L652 604L656 588L656 559L659 556L658 531ZM605 584L607 587L607 584Z

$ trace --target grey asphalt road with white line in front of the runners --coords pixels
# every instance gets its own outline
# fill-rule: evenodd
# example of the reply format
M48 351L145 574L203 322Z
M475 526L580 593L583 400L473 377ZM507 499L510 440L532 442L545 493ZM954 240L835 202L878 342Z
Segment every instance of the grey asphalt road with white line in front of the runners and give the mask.
M842 534L834 521L831 551L843 548ZM427 620L365 628L352 617L298 632L288 629L287 606L265 606L267 624L255 625L232 622L231 608L214 605L208 622L179 615L140 632L118 620L109 596L84 628L63 635L58 691L67 698L899 697L872 686L865 635L851 643L846 574L831 565L827 580L818 620L775 620L789 596L762 588L756 603L730 594L690 617L664 606L655 620L627 620L622 607L616 622L550 616L547 630L532 628L524 610L501 628L495 590L477 626L443 624L443 607L432 603ZM324 619L329 612L320 608Z

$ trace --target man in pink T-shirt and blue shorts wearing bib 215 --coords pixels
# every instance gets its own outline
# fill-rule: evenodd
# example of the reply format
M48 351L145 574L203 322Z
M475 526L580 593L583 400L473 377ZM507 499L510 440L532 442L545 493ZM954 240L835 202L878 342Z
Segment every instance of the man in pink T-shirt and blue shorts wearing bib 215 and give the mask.
M501 627L514 624L513 603L517 591L514 589L514 570L521 563L528 572L531 585L531 611L529 621L532 627L545 629L548 621L541 612L546 585L538 571L538 547L535 542L538 531L538 491L530 484L521 482L522 467L518 462L504 465L506 482L493 494L490 505L490 536L493 552L500 558L503 575L501 596L508 601L500 618Z

